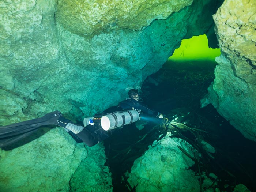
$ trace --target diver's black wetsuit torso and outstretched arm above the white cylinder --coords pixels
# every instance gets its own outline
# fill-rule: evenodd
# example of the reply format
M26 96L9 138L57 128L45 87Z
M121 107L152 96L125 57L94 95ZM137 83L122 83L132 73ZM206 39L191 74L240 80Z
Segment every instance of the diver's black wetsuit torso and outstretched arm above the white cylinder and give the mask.
M128 110L132 108L135 110L141 110L143 113L147 113L152 116L158 116L160 114L159 112L150 110L144 103L140 101L136 101L133 98L129 98L124 101L121 101L118 106L123 110Z

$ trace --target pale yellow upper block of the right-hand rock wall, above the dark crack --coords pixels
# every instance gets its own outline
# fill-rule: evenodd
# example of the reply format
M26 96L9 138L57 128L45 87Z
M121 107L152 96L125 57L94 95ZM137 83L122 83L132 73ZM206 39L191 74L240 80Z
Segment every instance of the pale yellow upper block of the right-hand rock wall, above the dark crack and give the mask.
M256 2L226 0L214 15L222 53L230 60L234 76L256 84Z

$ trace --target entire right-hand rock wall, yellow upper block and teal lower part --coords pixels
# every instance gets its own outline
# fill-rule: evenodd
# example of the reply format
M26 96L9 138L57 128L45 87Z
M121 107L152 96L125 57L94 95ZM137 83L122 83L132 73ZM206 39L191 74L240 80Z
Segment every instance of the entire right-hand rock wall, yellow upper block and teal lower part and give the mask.
M226 0L214 15L222 55L208 89L217 111L256 140L256 1Z

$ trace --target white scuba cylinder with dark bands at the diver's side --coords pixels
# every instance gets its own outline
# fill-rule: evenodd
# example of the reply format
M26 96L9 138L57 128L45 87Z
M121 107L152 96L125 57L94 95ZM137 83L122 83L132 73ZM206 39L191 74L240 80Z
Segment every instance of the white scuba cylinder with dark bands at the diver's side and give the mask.
M138 121L139 117L136 110L109 113L101 117L101 127L108 131Z

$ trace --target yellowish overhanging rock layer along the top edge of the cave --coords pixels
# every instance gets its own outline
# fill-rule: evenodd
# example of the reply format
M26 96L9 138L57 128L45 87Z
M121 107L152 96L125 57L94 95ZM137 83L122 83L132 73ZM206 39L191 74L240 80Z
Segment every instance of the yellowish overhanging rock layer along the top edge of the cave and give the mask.
M92 37L115 28L141 30L155 19L191 5L193 0L59 0L56 19L71 33Z

